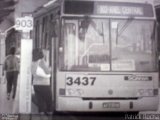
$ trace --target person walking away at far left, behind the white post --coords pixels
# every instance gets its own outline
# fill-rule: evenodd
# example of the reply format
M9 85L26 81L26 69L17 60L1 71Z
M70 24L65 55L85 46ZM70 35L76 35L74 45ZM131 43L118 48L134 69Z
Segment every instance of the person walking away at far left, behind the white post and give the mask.
M9 55L6 57L3 65L3 75L4 71L6 72L8 100L10 99L12 86L13 86L12 98L14 99L16 96L17 78L19 73L19 58L15 55L15 53L16 53L16 48L11 47Z

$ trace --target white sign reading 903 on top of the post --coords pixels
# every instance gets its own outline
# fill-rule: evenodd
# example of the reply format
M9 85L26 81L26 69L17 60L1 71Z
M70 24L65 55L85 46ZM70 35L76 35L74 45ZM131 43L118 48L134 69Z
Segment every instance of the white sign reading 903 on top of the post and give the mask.
M15 29L25 32L33 30L33 17L25 16L21 18L16 18Z

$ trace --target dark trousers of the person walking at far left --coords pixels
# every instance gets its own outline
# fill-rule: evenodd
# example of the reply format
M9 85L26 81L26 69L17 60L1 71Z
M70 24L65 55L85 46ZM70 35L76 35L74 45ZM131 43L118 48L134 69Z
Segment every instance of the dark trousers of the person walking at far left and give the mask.
M7 78L7 93L10 94L12 91L13 86L13 96L15 98L16 90L17 90L17 78L18 78L18 71L11 71L6 73Z

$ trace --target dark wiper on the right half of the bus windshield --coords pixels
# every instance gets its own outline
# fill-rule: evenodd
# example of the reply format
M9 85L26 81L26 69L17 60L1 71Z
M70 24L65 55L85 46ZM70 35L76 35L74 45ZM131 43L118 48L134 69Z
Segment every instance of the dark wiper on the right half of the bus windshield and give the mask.
M134 17L129 17L120 30L119 30L119 24L118 24L117 31L116 31L117 32L116 33L116 44L118 44L118 37L126 30L126 28L132 23L133 20L134 20Z

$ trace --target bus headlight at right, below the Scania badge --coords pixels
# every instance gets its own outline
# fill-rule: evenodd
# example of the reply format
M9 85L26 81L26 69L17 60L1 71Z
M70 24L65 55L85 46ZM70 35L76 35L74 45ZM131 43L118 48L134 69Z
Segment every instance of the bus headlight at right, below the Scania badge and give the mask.
M154 96L153 89L139 89L138 96Z

